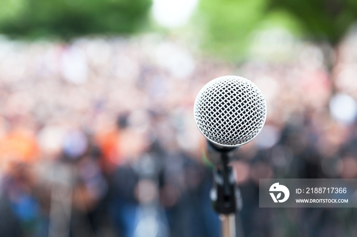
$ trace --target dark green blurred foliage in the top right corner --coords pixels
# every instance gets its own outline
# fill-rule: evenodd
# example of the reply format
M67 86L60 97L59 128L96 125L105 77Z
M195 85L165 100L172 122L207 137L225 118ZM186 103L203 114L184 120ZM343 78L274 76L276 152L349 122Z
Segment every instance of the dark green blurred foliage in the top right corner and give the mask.
M355 0L271 0L269 9L284 9L296 17L314 40L339 42L357 18Z

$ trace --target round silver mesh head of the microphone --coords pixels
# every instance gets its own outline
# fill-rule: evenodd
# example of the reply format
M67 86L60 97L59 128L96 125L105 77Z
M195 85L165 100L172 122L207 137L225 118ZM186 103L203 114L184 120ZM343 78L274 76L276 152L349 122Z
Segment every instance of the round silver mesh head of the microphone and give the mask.
M198 93L193 110L199 131L218 147L249 142L262 130L267 115L259 88L239 76L208 82Z

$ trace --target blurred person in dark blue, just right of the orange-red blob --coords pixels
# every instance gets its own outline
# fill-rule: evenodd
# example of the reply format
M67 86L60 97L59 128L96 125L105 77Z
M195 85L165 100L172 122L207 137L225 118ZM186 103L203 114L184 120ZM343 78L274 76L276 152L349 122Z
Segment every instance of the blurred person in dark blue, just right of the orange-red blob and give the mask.
M145 151L146 142L140 131L124 121L119 123L119 126L123 127L117 137L120 147L120 157L117 159L122 162L115 166L109 176L108 211L117 234L132 237L135 233L139 205L135 196L138 174L134 170L134 165Z

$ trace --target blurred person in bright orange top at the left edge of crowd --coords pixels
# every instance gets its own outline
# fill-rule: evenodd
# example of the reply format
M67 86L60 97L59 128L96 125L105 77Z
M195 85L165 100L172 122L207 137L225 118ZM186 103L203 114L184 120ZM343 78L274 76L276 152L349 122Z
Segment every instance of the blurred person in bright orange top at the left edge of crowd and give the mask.
M6 205L10 206L23 234L30 236L38 233L40 225L39 203L34 193L36 174L32 168L38 161L39 147L33 129L31 117L15 116L0 138L2 206L5 213L9 210Z

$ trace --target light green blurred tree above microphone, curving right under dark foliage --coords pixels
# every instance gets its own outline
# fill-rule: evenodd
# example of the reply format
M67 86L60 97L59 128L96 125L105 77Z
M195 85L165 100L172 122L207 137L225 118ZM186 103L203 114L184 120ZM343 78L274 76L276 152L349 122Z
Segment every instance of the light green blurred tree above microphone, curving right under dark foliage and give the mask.
M229 60L244 60L257 29L281 26L299 34L299 22L286 10L267 11L266 0L205 0L199 4L203 47Z

